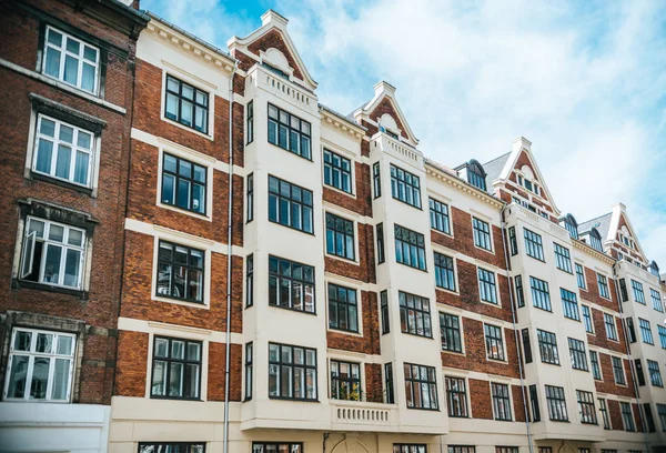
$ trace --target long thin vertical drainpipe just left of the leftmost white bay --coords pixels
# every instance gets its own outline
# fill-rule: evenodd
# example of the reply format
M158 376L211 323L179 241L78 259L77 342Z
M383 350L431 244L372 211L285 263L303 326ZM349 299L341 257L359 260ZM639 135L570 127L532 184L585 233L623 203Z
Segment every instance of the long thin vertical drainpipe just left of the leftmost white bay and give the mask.
M224 353L224 434L222 443L224 445L224 453L229 453L229 380L231 373L229 369L231 366L231 234L233 224L233 78L236 69L239 68L238 60L231 71L231 78L229 79L229 197L228 197L228 226L226 226L226 348Z

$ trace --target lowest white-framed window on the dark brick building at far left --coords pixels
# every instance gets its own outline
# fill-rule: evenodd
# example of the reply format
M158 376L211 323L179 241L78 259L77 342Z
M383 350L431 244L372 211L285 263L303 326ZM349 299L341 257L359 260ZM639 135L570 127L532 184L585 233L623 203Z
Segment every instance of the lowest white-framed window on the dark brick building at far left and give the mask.
M4 399L69 401L75 349L75 335L16 328L9 346Z

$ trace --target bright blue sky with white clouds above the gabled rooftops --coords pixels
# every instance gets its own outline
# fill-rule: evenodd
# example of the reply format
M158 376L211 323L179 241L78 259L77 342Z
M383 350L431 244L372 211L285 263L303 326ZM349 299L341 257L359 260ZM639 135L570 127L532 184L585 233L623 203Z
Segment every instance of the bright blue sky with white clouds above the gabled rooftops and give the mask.
M578 222L627 207L666 272L666 2L141 0L226 48L273 9L320 102L349 113L385 80L428 158L454 167L532 151Z

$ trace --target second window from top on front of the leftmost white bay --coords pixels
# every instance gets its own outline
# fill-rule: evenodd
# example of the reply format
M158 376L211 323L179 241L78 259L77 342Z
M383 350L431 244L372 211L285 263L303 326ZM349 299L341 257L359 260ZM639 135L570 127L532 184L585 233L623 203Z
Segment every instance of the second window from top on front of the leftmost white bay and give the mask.
M269 175L269 220L312 233L312 192Z

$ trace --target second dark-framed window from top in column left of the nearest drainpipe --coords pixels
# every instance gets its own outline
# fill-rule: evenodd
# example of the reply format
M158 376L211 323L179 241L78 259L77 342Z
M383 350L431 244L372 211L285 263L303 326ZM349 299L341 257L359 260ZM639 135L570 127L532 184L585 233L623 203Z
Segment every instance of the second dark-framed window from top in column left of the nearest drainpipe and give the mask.
M206 169L164 153L162 203L205 214Z

